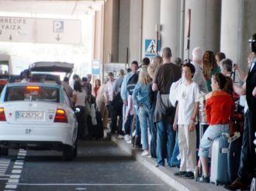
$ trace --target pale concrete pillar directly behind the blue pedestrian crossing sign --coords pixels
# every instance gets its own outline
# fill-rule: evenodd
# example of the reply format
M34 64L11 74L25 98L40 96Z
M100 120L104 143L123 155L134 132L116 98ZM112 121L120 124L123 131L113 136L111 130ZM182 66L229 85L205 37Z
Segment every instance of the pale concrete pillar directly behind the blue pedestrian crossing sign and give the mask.
M160 22L160 1L143 1L142 57L145 56L145 39L155 39L156 25ZM140 61L140 60L139 60Z

